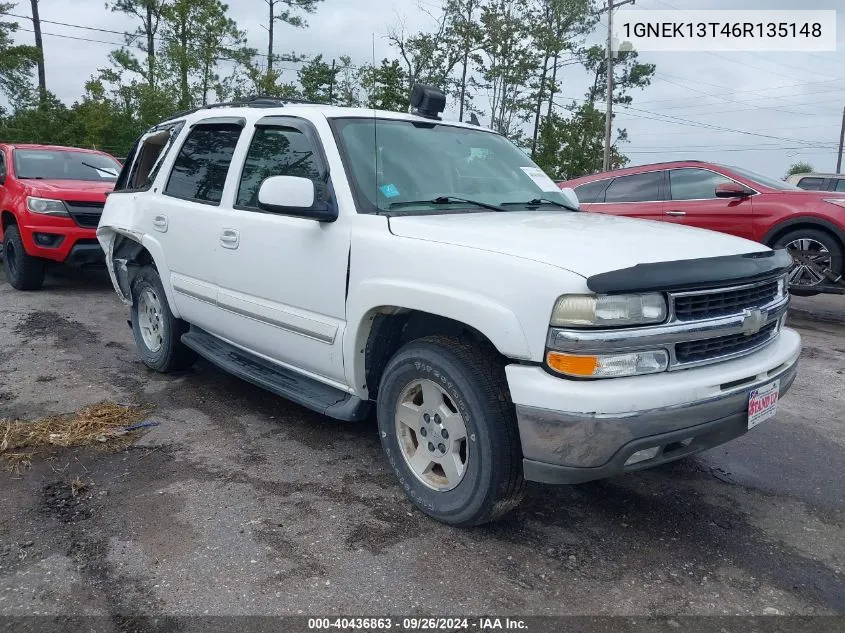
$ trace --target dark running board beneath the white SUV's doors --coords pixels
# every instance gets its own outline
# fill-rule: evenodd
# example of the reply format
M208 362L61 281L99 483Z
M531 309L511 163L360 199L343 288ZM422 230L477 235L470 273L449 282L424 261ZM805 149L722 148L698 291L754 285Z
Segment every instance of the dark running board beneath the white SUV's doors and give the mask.
M363 420L369 413L368 401L250 354L205 330L191 326L182 342L224 371L318 413L346 421Z

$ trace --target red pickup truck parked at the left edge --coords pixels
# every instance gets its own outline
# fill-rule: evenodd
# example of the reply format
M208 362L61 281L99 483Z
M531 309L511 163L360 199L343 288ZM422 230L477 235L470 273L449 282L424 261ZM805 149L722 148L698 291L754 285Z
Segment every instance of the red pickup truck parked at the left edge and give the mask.
M103 260L96 229L120 168L103 152L0 143L0 235L14 288L40 288L48 262Z

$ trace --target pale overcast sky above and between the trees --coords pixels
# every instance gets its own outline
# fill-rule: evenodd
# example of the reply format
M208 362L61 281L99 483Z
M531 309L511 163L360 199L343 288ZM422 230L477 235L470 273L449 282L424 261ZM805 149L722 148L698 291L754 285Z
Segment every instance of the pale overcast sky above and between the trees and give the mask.
M265 0L230 0L229 6L250 45L266 50ZM438 0L325 0L308 17L309 28L277 26L275 51L321 53L325 59L346 54L358 64L370 62L373 49L376 59L393 57L388 30L400 25L409 32L430 29L428 12L436 13L439 6ZM120 35L95 29L132 31L135 25L131 18L106 10L104 0L40 0L39 8L47 87L72 103L121 43ZM809 162L817 171L835 170L845 107L842 0L637 0L634 8L839 8L836 52L641 52L640 61L655 64L657 72L649 87L632 93L632 107L619 110L614 120L615 127L628 131L630 142L621 150L633 165L699 159L773 177L783 176L797 161ZM29 2L20 0L13 11L29 16ZM31 22L17 21L22 27L17 40L32 43ZM599 25L590 41L603 42L606 29ZM284 79L295 79L297 66L283 66L288 68ZM583 98L588 77L582 69L567 66L560 79L562 97Z

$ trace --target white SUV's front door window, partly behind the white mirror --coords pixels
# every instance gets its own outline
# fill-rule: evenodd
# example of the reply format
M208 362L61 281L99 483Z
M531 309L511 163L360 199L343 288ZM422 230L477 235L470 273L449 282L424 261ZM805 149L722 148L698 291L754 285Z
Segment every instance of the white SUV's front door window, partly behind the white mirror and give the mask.
M235 205L258 208L258 190L270 176L300 176L315 185L315 199L324 197L326 183L314 159L314 148L299 130L282 127L256 128L244 162Z

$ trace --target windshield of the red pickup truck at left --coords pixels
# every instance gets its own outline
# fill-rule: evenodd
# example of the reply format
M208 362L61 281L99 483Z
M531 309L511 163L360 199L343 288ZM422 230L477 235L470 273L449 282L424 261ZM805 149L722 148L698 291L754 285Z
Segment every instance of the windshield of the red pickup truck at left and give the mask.
M15 175L44 180L114 182L120 163L104 154L46 149L16 149Z

